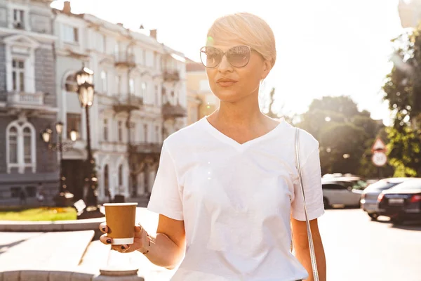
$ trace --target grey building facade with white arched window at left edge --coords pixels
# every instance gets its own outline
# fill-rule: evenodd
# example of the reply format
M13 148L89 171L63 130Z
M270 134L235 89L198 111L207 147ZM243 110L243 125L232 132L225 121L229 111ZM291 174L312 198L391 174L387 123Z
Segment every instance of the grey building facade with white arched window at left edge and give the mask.
M35 204L39 183L47 200L58 192L57 153L39 138L58 112L50 4L0 0L0 204Z

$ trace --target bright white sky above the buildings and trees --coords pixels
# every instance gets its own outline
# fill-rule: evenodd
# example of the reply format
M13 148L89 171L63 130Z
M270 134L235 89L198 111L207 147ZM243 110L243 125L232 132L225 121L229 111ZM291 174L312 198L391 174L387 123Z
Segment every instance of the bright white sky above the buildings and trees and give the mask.
M62 8L62 0L52 4ZM382 84L390 72L391 39L403 32L399 0L72 0L74 13L91 13L125 27L158 30L158 41L200 61L212 22L249 12L274 30L277 60L261 87L274 87L275 110L300 114L314 98L350 96L360 110L390 124ZM276 5L275 5L276 3Z

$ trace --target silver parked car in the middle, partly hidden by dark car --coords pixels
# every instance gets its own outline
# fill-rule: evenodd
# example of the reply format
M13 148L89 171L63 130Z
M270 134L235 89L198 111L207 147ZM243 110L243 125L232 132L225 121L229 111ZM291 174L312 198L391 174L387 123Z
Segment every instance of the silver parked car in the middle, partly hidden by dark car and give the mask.
M380 211L378 209L377 198L383 190L388 190L393 188L399 183L408 180L408 178L384 178L376 183L368 185L368 187L363 191L361 195L361 208L367 212L368 216L371 219L376 220L380 216Z

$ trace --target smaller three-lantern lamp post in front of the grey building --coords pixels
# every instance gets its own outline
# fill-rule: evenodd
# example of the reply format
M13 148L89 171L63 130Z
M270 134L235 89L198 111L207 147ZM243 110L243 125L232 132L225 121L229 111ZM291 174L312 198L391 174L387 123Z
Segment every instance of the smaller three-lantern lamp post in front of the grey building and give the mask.
M58 193L65 192L66 191L66 185L65 185L65 176L63 176L62 173L62 160L63 160L63 150L67 149L67 146L72 145L72 143L63 143L62 141L62 131L63 131L63 123L57 122L55 124L55 131L58 135L58 143L51 143L51 136L53 134L53 130L47 128L44 131L41 132L41 139L48 145L48 149L51 150L58 150L59 153L59 165L60 165L60 186L58 188ZM76 131L72 130L70 132L70 139L72 142L76 141L77 133Z

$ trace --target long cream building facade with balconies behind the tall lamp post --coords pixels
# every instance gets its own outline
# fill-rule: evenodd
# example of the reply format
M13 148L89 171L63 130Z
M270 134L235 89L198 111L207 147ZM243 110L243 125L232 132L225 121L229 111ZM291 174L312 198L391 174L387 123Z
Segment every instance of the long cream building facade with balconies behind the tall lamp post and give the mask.
M185 126L184 55L156 41L156 30L145 34L93 15L75 15L68 2L54 14L58 118L65 123L64 139L71 130L80 132L64 154L69 190L83 198L86 114L74 74L85 66L94 72L89 115L98 199L148 195L163 140Z

